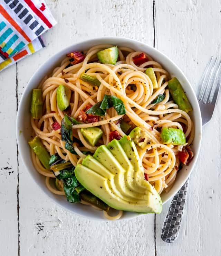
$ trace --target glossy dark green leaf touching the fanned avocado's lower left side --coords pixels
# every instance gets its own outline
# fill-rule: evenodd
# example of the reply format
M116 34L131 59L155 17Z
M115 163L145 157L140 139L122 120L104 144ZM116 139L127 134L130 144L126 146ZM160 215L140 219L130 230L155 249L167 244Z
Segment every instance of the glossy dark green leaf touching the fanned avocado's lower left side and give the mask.
M77 181L74 174L72 174L68 179L63 180L64 191L67 201L70 203L80 202L80 194L75 190L79 182Z

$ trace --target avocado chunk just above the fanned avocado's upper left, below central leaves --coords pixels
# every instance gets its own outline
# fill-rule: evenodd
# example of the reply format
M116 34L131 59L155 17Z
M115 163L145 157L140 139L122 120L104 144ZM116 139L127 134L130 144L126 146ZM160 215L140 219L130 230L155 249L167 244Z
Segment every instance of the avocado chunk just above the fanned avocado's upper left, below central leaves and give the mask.
M80 132L87 140L87 142L94 146L97 144L98 140L102 137L103 131L98 127L88 127L88 128L81 128Z

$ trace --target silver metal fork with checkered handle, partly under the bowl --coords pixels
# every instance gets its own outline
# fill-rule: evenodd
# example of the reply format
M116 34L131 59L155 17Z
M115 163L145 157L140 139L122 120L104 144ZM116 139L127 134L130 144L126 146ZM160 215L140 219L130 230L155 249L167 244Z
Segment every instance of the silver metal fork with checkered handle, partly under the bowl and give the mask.
M201 110L203 126L207 124L212 118L220 84L221 60L218 60L218 57L214 58L212 56L206 65L198 85L198 90L196 92ZM187 195L188 181L189 179L175 194L170 208L166 214L161 231L161 238L166 243L173 243L179 234Z

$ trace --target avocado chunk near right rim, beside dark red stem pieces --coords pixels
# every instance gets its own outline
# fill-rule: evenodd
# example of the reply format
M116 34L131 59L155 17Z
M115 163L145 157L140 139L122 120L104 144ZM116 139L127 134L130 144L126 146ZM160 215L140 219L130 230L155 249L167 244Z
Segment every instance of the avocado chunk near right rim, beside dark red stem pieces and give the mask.
M183 145L186 143L185 134L181 129L164 127L160 137L164 144Z

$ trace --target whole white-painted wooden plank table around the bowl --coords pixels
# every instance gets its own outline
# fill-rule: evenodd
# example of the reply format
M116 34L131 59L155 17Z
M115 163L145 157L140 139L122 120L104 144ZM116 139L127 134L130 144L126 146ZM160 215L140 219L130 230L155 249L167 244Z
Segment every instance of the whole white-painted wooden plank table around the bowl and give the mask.
M194 89L221 51L221 3L213 0L47 0L58 24L47 47L0 73L0 255L221 255L221 97L203 129L179 238L166 244L160 215L95 222L51 202L27 173L16 144L16 112L35 70L61 48L100 36L140 40L169 56Z

